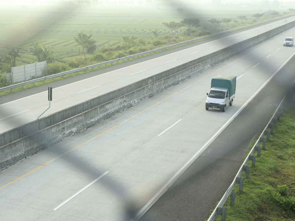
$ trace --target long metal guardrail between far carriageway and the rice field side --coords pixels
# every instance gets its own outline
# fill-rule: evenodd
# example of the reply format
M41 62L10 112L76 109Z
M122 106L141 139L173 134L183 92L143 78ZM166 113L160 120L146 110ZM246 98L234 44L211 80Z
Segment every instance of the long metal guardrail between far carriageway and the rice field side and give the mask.
M217 37L218 35L221 35L221 34L230 33L230 32L236 32L236 31L239 31L239 30L242 30L242 29L247 29L247 28L258 26L258 25L261 25L261 24L266 24L266 23L282 20L282 19L285 19L285 18L288 18L288 17L291 17L291 16L294 16L294 14L288 15L288 16L285 16L285 17L276 18L276 19L271 19L271 20L264 21L264 22L250 24L250 25L247 25L247 26L244 26L244 27L231 29L231 30L227 30L227 31L224 31L224 32L219 32L219 33L216 33L216 34L210 34L210 35L207 35L207 36L204 36L204 37L200 37L200 38L196 38L196 39L192 39L192 40L188 40L188 41L180 42L180 43L176 43L176 44L171 44L171 45L168 45L168 46L165 46L165 47L160 47L160 48L153 49L153 50L150 50L150 51L141 52L141 53L138 53L138 54L135 54L135 55L129 55L129 56L126 56L126 57L121 57L121 58L117 58L117 59L114 59L114 60L101 62L101 63L95 64L95 65L89 65L89 66L86 66L86 67L80 67L80 68L77 68L77 69L74 69L74 70L61 72L61 73L58 73L58 74L48 75L48 76L45 76L45 77L39 77L39 78L36 78L36 79L33 79L33 80L28 80L28 81L25 81L25 82L21 82L21 83L17 83L17 84L14 84L14 85L10 85L10 86L0 88L0 91L4 91L4 90L12 91L13 88L16 88L16 87L19 87L19 86L22 86L22 88L24 88L24 85L27 85L27 84L35 85L36 82L38 82L38 81L45 82L45 80L49 79L49 78L54 78L54 77L58 77L58 76L66 75L66 74L71 74L71 73L74 73L74 72L79 72L79 71L82 71L82 70L87 70L88 68L92 68L92 70L93 70L94 67L100 67L101 65L106 66L107 64L113 64L114 62L118 63L119 61L124 61L125 59L128 60L129 58L139 57L140 55L143 56L143 55L147 55L149 53L151 54L153 52L158 52L160 50L165 50L165 49L168 49L168 48L171 48L171 47L181 46L183 44L189 44L191 42Z

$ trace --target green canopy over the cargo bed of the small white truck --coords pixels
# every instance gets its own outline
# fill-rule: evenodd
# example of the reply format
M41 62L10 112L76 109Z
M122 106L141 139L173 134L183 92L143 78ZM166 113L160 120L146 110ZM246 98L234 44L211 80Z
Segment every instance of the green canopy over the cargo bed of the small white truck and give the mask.
M230 97L236 93L236 82L237 76L227 75L227 76L217 76L211 80L211 88L227 88Z

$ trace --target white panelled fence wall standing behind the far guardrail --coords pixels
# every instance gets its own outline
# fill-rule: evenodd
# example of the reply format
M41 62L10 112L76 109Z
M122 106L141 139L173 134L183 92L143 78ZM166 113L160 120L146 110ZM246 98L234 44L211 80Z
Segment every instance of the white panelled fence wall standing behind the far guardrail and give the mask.
M12 82L22 82L31 80L32 77L40 77L42 76L43 72L47 71L47 63L46 61L22 65L17 67L11 68L11 78Z

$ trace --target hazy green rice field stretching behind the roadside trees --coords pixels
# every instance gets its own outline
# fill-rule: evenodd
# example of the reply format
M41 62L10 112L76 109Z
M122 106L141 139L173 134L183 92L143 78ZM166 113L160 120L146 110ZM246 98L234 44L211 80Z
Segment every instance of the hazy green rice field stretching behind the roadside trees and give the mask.
M36 58L26 54L33 43L53 47L59 58L79 54L79 45L74 36L77 33L92 34L97 46L111 46L123 41L124 36L149 39L153 30L159 35L169 34L163 22L180 22L185 17L197 17L203 29L210 29L208 20L212 18L231 18L245 15L248 22L251 15L263 13L261 9L200 9L196 6L184 8L181 13L177 6L47 6L47 7L8 7L0 8L0 55L7 53L8 44L22 45L22 59L18 65L34 62ZM285 9L284 11L288 11ZM222 26L221 26L222 28ZM185 28L179 29L180 31ZM82 48L80 48L82 53Z

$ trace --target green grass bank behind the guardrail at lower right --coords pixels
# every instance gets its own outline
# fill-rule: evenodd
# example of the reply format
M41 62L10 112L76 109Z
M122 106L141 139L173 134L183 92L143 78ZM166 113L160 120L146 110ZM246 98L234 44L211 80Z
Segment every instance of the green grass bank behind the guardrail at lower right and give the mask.
M230 206L230 197L224 204L227 221L295 220L294 117L293 102L280 117L266 149L256 157L255 166L251 165L250 178L244 179L243 191L239 192L239 185L235 185L234 206ZM221 216L215 220L221 220Z

